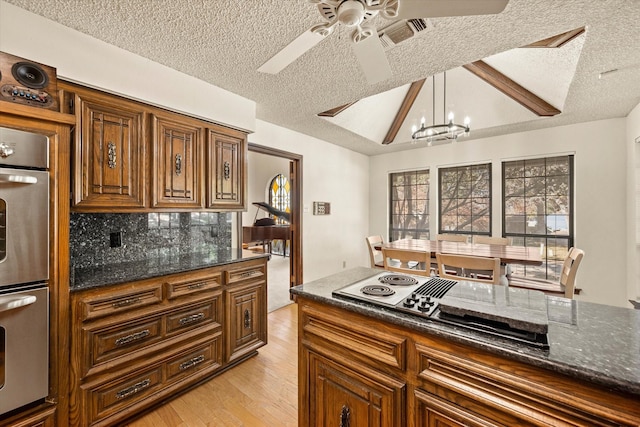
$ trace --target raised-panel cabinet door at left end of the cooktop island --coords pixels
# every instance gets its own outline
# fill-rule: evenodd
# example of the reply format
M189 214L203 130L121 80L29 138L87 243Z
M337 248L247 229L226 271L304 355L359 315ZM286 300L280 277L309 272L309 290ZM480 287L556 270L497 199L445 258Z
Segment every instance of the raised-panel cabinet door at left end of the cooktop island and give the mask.
M406 425L402 382L353 371L313 352L308 361L310 426Z

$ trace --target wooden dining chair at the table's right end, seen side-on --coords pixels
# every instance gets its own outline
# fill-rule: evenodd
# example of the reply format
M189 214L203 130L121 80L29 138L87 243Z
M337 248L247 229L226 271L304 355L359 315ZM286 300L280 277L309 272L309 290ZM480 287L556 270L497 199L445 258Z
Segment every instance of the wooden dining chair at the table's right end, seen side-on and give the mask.
M537 289L549 294L563 294L565 298L573 299L580 290L576 288L576 274L584 258L582 249L571 247L562 263L559 280L544 280L537 278L512 276L509 285L519 288Z

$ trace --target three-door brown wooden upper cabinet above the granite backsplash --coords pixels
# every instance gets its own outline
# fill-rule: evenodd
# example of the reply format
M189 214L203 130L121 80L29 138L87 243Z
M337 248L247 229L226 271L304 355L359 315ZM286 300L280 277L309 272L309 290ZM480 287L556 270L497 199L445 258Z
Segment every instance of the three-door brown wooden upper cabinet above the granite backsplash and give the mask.
M246 207L247 135L59 82L76 116L72 210L238 211Z

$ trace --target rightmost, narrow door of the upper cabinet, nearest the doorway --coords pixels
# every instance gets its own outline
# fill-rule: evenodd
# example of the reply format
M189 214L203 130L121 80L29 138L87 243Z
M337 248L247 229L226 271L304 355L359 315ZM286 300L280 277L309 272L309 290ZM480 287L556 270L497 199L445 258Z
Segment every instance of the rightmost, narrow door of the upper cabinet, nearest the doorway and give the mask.
M207 208L243 209L245 207L246 145L246 137L242 133L227 135L209 131Z

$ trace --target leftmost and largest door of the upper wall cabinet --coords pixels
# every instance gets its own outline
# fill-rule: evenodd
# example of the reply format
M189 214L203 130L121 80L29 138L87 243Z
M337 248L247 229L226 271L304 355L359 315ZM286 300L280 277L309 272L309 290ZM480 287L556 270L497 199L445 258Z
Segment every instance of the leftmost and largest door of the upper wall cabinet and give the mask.
M118 98L82 95L76 134L73 206L145 206L144 113Z

